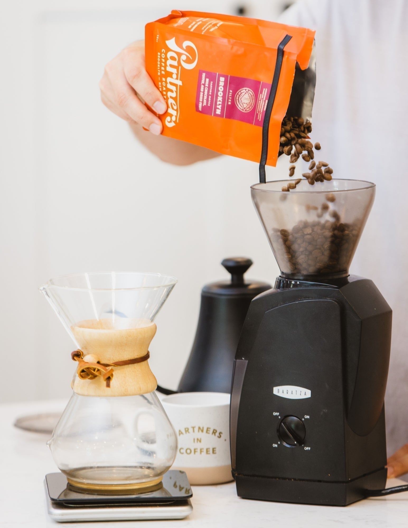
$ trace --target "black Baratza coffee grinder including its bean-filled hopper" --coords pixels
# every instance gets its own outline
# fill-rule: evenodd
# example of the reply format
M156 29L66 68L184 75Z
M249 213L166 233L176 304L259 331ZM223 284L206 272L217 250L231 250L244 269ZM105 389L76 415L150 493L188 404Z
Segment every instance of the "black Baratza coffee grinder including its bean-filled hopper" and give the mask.
M240 497L345 506L387 474L392 312L348 274L375 185L285 184L252 187L281 275L252 300L235 356L233 475Z

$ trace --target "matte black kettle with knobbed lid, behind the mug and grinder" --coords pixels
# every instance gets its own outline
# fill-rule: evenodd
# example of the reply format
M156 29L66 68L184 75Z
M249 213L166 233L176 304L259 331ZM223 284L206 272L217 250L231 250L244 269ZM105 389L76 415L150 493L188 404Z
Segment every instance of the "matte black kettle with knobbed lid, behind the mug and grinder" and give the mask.
M221 262L231 280L202 288L196 337L178 392L230 392L234 358L249 304L271 289L266 282L247 281L253 262L243 257Z

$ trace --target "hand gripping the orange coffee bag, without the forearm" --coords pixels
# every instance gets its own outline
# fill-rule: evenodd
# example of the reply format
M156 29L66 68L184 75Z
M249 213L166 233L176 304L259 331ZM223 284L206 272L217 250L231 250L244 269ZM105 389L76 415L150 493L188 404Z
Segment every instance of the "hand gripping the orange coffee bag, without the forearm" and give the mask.
M167 110L160 91L146 72L144 40L127 46L106 64L99 88L102 102L114 114L131 125L138 123L155 135L161 134L160 119L136 95L143 98L157 114L164 114Z

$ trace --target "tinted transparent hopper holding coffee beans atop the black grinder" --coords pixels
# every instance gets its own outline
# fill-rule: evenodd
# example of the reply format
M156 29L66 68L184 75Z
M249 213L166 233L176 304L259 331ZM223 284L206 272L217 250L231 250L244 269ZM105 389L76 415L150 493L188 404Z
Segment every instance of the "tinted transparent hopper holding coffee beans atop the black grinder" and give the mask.
M302 180L251 187L252 200L281 275L316 279L348 275L375 196L375 185L331 180L317 189Z

